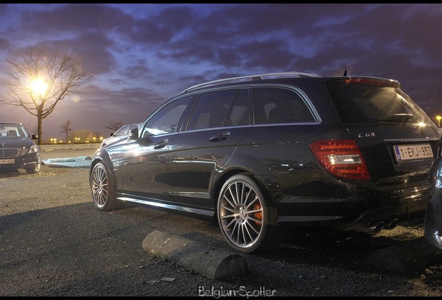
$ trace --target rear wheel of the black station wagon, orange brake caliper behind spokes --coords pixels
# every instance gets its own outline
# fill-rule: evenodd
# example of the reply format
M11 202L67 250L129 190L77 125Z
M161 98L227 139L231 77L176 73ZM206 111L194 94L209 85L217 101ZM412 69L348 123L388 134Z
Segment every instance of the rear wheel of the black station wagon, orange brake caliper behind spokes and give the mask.
M277 211L250 176L229 178L218 197L218 224L229 246L243 253L277 247Z

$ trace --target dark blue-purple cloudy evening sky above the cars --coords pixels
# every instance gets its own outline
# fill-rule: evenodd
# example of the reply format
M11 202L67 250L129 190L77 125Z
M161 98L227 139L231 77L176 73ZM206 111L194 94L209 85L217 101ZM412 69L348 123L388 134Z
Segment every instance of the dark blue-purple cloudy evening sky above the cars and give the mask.
M265 72L350 67L397 79L430 117L442 114L440 3L0 4L0 67L42 42L97 74L44 119L44 139L63 138L67 119L107 136L111 122L142 122L190 85ZM0 105L0 121L36 133L23 109Z

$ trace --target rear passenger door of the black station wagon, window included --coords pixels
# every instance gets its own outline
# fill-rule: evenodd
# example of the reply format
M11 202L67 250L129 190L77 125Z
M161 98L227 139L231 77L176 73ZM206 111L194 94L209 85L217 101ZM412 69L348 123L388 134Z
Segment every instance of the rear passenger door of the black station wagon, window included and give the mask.
M211 208L213 178L249 128L248 88L201 94L188 124L170 145L170 191L174 201Z

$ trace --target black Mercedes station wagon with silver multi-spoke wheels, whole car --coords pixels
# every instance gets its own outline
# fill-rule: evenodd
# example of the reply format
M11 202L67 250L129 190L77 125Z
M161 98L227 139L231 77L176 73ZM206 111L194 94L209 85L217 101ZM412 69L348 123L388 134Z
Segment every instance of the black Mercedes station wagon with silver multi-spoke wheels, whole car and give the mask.
M90 189L99 210L213 218L231 248L252 253L283 227L376 233L423 217L440 138L395 80L226 78L183 90L98 149Z

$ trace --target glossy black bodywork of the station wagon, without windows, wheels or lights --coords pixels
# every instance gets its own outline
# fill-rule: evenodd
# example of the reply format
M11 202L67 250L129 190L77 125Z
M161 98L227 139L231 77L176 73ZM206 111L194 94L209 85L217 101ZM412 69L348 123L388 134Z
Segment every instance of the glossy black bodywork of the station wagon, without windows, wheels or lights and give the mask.
M438 128L429 117L425 126L343 124L329 98L326 80L284 78L190 90L197 95L220 88L247 88L253 112L253 88L291 87L311 101L307 104L314 121L254 125L251 113L246 126L186 131L192 104L177 120L177 131L138 138L136 129L136 139L99 149L91 170L104 160L115 176L120 199L208 217L215 214L222 184L241 172L252 174L261 184L277 208L279 224L370 231L380 222L388 226L395 219L423 215L433 159L398 163L393 146L428 143L436 156L441 138ZM140 124L140 132L143 126ZM318 140L355 140L370 181L327 172L310 149Z

